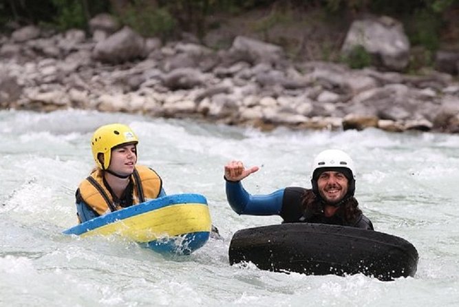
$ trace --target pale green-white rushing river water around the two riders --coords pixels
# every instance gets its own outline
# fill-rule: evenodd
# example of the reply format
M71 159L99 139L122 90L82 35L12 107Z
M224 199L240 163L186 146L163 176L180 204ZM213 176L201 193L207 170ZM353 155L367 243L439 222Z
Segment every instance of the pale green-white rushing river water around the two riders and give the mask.
M126 123L138 160L168 194L201 193L224 240L189 256L164 256L118 237L80 237L74 191L94 166L96 127ZM459 136L433 133L290 131L193 120L104 114L0 112L0 306L458 306ZM260 170L250 193L310 187L319 151L348 151L356 198L377 231L403 237L419 253L415 277L381 282L364 275L307 276L230 266L239 229L279 224L277 216L237 215L226 202L223 166Z

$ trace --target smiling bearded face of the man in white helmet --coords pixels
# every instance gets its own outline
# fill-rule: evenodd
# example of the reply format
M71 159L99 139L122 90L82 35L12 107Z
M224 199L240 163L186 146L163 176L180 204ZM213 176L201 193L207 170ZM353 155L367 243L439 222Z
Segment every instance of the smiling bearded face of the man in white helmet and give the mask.
M348 178L339 171L324 171L317 178L317 187L325 202L336 204L348 193L348 182Z

